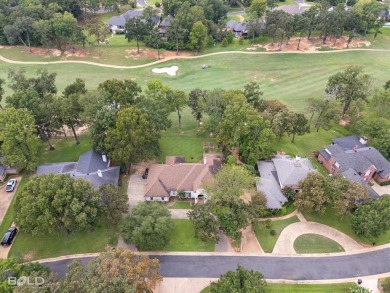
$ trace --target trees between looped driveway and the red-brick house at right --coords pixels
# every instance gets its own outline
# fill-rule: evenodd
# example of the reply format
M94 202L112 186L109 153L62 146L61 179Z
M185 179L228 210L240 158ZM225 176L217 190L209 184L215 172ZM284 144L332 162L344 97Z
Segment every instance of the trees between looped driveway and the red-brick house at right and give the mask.
M357 235L377 237L390 229L390 196L373 200L367 188L341 174L310 173L300 182L302 192L291 193L299 210L323 214L333 208L343 217L352 214Z

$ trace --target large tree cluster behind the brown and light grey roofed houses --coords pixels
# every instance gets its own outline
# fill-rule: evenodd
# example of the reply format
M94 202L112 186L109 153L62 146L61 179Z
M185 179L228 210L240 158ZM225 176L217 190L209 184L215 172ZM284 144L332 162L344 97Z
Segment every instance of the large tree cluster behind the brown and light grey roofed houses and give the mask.
M254 165L269 158L284 134L303 135L309 122L303 114L289 111L277 100L264 100L259 84L250 82L244 90L194 89L188 105L203 129L216 135L227 155ZM203 117L208 119L203 121Z

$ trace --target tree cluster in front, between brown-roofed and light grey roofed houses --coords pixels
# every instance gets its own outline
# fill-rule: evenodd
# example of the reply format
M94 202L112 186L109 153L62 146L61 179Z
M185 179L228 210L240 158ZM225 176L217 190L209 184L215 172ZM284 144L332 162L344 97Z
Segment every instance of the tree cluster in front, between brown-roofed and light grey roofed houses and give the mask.
M211 198L188 213L195 236L202 240L218 240L218 229L240 239L242 229L267 213L265 196L256 191L253 177L242 166L224 165L204 188ZM245 192L250 195L248 203L242 199Z

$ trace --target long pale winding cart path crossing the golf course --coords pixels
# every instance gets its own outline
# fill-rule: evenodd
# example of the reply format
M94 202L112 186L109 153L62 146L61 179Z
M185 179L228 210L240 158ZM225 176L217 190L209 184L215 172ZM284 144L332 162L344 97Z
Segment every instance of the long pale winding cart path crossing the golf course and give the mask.
M226 52L215 52L209 53L205 55L198 56L170 56L165 59L153 61L150 63L145 63L141 65L132 65L132 66L121 66L121 65L111 65L111 64L103 64L96 63L90 61L78 61L78 60L64 60L64 61L51 61L51 62L41 62L41 61L16 61L11 60L0 54L0 60L10 64L22 64L22 65L50 65L50 64L86 64L93 65L98 67L106 67L106 68L114 68L114 69L136 69L136 68L144 68L149 67L155 64L164 63L167 61L177 60L177 59L199 59L203 57L210 57L215 55L227 55L227 54L246 54L246 55L271 55L271 54L333 54L333 53L342 53L342 52L351 52L351 51L372 51L372 52L390 52L387 49L342 49L342 50L334 50L334 51L296 51L296 52L283 52L283 51L273 51L273 52L243 52L243 51L226 51Z

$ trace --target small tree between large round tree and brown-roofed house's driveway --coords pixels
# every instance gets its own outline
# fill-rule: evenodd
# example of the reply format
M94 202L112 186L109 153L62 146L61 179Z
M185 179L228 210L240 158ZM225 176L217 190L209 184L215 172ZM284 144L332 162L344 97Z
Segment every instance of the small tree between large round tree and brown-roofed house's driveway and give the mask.
M120 187L112 184L103 184L99 187L101 206L107 219L113 223L122 220L122 214L128 211L127 194Z

